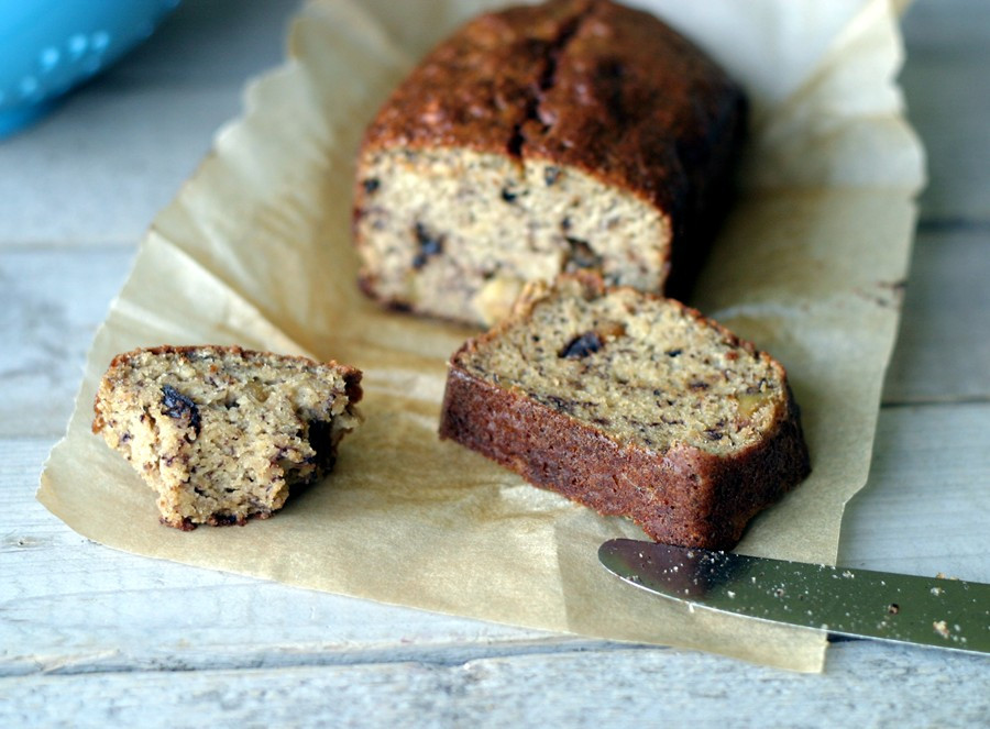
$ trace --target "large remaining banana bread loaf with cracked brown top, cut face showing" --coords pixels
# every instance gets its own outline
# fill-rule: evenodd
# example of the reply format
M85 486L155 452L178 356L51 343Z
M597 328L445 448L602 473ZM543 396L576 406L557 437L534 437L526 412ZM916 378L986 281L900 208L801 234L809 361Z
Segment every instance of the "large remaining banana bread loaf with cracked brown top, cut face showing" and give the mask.
M362 288L474 323L561 272L683 297L726 207L745 110L739 87L648 13L552 0L481 15L365 133Z

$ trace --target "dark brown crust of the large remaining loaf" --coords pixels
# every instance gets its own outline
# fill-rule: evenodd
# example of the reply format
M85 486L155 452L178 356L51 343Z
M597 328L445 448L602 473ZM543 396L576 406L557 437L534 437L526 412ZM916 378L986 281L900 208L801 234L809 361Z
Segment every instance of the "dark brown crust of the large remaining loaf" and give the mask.
M637 288L683 297L726 208L745 120L740 88L648 13L608 0L552 0L484 14L430 53L369 126L355 190L356 244L362 251L375 235L380 223L362 219L381 212L378 188L388 184L370 176L376 152L466 148L546 163L548 175L581 170L659 210L669 245L654 252L654 241L644 242L661 261L651 285ZM505 205L497 195L495 188L493 210ZM439 247L440 238L429 242ZM410 263L409 275L417 267ZM365 259L366 292L419 309L380 290L381 276L377 263Z

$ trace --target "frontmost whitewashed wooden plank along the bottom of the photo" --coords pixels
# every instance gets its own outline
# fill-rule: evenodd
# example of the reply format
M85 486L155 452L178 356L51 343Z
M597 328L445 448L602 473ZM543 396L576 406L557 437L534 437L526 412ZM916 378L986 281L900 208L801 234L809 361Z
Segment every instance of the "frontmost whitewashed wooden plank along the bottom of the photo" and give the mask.
M4 681L0 716L9 726L978 727L990 718L990 692L974 683L985 669L978 656L842 643L824 675L806 676L609 645L463 662L20 676Z

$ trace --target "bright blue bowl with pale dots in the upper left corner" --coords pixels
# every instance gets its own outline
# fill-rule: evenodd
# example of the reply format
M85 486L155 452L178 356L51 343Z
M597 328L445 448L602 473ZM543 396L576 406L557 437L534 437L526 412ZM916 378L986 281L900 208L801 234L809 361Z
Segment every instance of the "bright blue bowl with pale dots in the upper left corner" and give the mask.
M152 34L179 0L0 0L0 139Z

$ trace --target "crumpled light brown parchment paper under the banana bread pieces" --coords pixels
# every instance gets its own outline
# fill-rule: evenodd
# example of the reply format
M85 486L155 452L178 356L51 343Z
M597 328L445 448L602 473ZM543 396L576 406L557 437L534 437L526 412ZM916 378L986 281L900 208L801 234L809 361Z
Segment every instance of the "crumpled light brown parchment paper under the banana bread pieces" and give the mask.
M601 568L598 544L642 534L532 488L437 438L444 362L469 330L389 313L354 285L349 240L364 124L421 54L498 3L322 0L284 66L155 219L99 330L38 498L79 533L138 554L505 623L715 651L821 670L810 631L689 612ZM883 0L675 0L667 18L747 86L743 194L693 303L787 365L814 473L739 551L832 562L843 506L866 482L911 247L922 151L893 82ZM365 372L365 424L334 473L267 521L184 533L89 432L117 352L237 343Z

